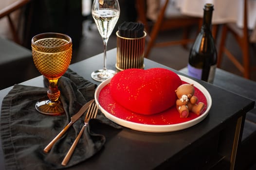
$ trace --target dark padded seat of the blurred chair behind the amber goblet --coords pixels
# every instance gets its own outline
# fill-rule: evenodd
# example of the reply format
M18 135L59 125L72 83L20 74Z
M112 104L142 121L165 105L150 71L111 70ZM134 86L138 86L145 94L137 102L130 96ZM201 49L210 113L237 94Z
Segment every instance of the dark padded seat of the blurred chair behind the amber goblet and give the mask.
M0 89L39 75L30 50L0 37Z

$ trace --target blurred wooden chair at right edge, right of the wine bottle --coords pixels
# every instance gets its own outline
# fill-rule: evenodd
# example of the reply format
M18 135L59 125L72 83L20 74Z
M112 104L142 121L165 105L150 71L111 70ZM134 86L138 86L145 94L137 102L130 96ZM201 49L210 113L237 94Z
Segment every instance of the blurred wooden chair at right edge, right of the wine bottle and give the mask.
M243 28L240 29L236 23L227 23L222 27L222 33L219 43L219 56L217 66L221 66L223 53L231 60L231 62L243 73L243 76L247 79L250 78L250 52L249 52L249 30L247 28L247 0L244 0L244 9L243 9ZM227 34L231 33L242 51L242 63L232 54L232 51L229 51L225 44L227 39Z

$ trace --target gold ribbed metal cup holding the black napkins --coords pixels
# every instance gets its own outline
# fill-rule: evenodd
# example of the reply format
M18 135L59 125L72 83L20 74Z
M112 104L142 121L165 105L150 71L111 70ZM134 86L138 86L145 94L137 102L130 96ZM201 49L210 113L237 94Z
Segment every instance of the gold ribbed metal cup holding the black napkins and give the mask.
M145 38L126 38L119 35L117 36L117 53L115 67L122 71L128 68L144 68L144 51L145 51Z

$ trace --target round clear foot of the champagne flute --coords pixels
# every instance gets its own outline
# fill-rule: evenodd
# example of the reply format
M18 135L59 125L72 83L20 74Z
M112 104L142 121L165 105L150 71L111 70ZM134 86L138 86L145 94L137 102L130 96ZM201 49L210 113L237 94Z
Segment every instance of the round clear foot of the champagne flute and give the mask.
M115 75L115 71L111 69L99 69L91 73L91 78L98 82L103 82L108 78L111 78Z

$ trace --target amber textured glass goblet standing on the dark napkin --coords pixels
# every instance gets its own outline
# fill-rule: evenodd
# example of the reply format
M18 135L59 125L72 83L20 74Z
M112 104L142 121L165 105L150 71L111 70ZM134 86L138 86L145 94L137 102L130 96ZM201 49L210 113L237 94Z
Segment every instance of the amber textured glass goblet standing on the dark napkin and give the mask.
M38 71L48 79L47 99L36 103L38 112L46 115L61 115L63 106L58 100L58 79L68 69L72 56L72 39L65 34L43 33L31 40L32 56Z

